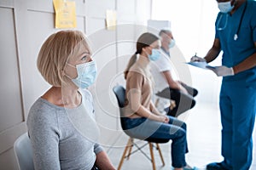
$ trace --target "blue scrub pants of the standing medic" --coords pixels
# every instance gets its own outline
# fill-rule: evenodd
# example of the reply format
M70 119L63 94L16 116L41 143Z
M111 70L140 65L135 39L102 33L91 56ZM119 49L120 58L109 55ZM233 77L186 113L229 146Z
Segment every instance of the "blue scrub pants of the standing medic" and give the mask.
M256 83L256 82L254 82ZM246 82L223 82L220 92L222 165L248 170L253 160L256 88Z

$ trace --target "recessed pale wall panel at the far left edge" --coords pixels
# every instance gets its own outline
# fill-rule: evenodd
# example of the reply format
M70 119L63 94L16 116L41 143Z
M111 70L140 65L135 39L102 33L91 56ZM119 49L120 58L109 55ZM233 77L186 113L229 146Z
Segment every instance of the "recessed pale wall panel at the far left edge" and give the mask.
M0 8L0 132L22 122L20 73L15 43L13 8Z

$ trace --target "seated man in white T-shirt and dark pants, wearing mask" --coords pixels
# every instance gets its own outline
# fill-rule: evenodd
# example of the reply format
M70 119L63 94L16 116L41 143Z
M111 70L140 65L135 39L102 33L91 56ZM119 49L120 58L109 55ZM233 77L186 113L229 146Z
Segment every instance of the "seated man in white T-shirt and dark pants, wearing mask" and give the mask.
M169 49L175 45L172 31L161 30L159 35L162 55L160 59L151 63L154 91L157 96L161 97L156 97L157 109L160 112L166 111L169 116L179 116L184 111L188 111L195 106L194 97L198 94L198 91L183 82L173 80L169 52ZM172 100L175 102L174 105ZM166 109L163 110L164 108Z

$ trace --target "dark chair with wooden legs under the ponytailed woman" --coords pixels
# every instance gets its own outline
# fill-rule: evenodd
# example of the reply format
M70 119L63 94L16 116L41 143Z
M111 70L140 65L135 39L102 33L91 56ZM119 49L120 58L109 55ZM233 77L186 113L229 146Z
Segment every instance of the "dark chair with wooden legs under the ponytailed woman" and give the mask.
M113 88L113 93L115 94L117 100L118 100L118 104L119 104L119 114L120 114L120 122L121 122L121 127L122 129L124 130L125 132L125 123L124 123L124 118L123 118L123 108L125 107L125 88L122 87L122 86L115 86ZM126 133L127 134L127 133ZM129 134L127 134L129 136ZM131 154L137 152L138 150L140 150L144 156L146 156L150 161L152 161L152 166L153 166L153 169L155 170L155 162L154 162L154 152L153 152L153 148L154 148L154 144L156 145L155 148L157 150L159 150L159 154L160 154L160 159L162 161L162 164L163 166L165 166L165 161L164 161L164 158L162 156L162 153L161 153L161 150L160 150L160 146L159 144L160 143L167 143L169 142L169 139L153 139L153 138L148 138L148 139L144 139L145 141L147 141L148 145L149 145L149 150L150 150L150 156L151 158L145 153L143 152L142 148L144 146L146 146L147 144L143 144L143 146L138 146L135 142L134 142L134 139L132 136L129 136L130 139L128 139L128 142L125 146L125 150L124 150L124 153L123 153L123 156L119 162L119 167L118 167L118 170L121 169L122 165L123 165L123 162L125 160L125 158L129 159ZM133 146L136 146L137 147L137 150L134 150L131 152L132 150L132 147ZM127 153L128 152L128 153Z

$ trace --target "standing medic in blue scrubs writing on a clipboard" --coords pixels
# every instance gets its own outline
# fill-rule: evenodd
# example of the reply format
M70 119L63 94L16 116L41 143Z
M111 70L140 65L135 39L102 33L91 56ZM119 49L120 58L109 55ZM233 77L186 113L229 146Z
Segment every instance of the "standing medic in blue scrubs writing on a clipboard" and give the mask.
M212 69L223 77L219 96L224 161L208 170L247 170L253 160L253 127L256 113L256 1L217 0L215 39L202 59L211 62L223 51L222 65Z

